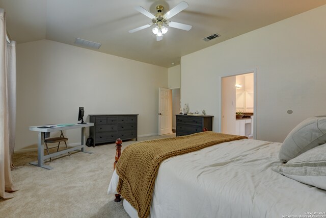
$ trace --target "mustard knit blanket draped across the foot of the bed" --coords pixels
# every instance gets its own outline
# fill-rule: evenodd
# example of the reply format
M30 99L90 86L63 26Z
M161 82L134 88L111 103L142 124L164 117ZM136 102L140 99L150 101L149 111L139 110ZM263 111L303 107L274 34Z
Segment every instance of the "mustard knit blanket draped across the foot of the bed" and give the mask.
M242 138L247 137L209 131L133 143L124 149L116 165L117 191L137 209L139 217L147 217L158 167L163 160Z

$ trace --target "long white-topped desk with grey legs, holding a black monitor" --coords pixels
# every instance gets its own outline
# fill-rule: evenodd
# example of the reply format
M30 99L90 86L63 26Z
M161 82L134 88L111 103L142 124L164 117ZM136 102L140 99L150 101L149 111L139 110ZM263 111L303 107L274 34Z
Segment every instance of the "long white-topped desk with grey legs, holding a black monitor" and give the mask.
M44 125L44 126L51 126L49 128L40 128L42 127L42 125L40 126L33 126L30 127L31 131L36 131L38 132L38 161L35 162L31 162L30 164L35 165L35 166L39 166L39 167L43 167L46 169L52 169L53 167L49 166L49 165L44 165L44 159L50 158L50 157L56 157L59 156L63 153L67 153L70 151L78 151L78 149L80 149L81 152L86 152L84 151L85 148L85 142L86 142L86 136L85 136L85 128L86 127L92 127L94 126L93 123L86 123L86 124L74 124L73 126L57 126L57 125ZM77 129L77 128L81 128L82 129L82 138L81 138L81 143L80 146L75 146L73 148L70 149L65 149L59 152L55 152L49 155L44 155L44 132L56 132L56 131L62 131L62 130L70 130L70 129ZM86 152L86 153L92 153L92 152Z

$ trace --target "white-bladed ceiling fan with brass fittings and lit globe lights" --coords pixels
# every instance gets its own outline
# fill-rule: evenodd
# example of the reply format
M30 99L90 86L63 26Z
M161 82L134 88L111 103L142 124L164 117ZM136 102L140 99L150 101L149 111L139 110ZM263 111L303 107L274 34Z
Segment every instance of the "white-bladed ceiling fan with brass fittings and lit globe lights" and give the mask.
M137 7L135 7L135 9L137 11L141 12L142 14L144 14L145 16L151 18L152 23L149 23L142 27L135 28L133 30L129 30L128 32L134 33L134 32L143 30L145 28L151 27L153 25L156 25L152 29L152 32L156 35L156 41L160 41L163 39L163 35L168 32L168 28L166 26L189 31L192 29L191 25L186 25L186 24L179 23L179 22L168 21L168 19L170 19L174 15L178 14L182 10L186 9L187 7L189 7L188 3L182 1L181 3L179 3L177 6L172 8L167 13L163 13L162 12L162 10L164 9L163 6L158 5L158 6L156 6L157 13L152 14L149 11L147 11L146 9L144 9L142 6L137 6Z

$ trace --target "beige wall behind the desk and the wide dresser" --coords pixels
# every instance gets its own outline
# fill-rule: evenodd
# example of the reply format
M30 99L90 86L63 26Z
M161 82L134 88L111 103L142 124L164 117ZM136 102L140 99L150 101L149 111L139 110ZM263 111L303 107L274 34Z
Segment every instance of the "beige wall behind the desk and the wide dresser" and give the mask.
M155 135L158 87L168 87L168 68L49 40L18 44L15 150L36 147L29 126L76 123L79 106L86 120L88 114L139 114L138 135ZM70 144L80 142L80 130L66 136Z

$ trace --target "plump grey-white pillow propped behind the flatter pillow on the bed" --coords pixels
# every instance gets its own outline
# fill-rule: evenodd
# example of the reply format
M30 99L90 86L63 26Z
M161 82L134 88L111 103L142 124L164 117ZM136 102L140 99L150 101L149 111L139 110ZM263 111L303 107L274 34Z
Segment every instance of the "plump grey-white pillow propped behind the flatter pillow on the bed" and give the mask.
M286 162L298 155L326 143L326 116L305 119L285 138L279 158Z

